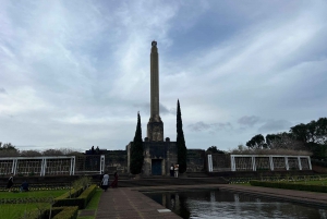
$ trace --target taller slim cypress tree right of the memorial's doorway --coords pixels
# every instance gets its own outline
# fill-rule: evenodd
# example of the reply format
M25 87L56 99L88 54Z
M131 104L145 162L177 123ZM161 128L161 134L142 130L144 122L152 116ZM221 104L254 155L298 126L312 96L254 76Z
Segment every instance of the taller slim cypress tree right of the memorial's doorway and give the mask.
M186 171L186 155L187 149L185 146L184 132L183 132L183 122L180 108L180 100L178 100L178 111L177 111L177 148L178 148L178 163L179 172L183 173Z

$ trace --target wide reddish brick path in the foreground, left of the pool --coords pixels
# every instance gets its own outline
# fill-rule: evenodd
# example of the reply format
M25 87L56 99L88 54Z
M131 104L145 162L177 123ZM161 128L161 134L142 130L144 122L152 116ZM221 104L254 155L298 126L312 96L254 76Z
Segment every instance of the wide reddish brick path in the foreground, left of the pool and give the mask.
M159 212L168 210L149 197L137 191L128 187L109 188L104 192L98 205L96 219L119 218L119 219L180 219L178 215L171 212Z

